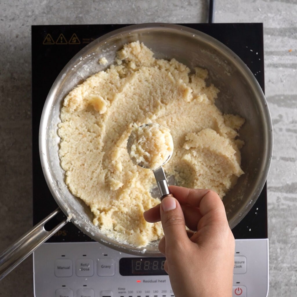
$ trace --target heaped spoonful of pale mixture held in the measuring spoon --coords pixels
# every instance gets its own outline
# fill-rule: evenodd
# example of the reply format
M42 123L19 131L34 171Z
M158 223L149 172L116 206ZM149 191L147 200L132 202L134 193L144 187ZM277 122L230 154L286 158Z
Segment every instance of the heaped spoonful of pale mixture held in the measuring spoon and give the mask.
M172 155L173 139L170 130L158 124L134 125L127 149L135 165L154 170Z

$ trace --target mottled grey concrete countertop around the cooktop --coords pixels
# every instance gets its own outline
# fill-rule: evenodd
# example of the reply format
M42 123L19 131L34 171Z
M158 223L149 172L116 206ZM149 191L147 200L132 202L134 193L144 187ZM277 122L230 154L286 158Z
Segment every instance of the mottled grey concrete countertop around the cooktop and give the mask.
M1 1L0 251L32 224L31 25L200 23L207 9L204 0ZM264 24L265 89L274 125L267 181L270 297L297 291L296 15L296 0L222 0L215 12L216 23ZM33 296L32 257L0 288L0 296Z

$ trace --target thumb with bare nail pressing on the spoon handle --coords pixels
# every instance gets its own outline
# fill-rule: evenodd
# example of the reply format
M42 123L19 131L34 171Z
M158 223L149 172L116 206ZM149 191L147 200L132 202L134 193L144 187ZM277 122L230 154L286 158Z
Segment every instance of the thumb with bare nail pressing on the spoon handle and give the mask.
M160 215L166 247L176 246L177 241L184 242L184 240L189 240L184 213L179 202L172 195L163 198Z

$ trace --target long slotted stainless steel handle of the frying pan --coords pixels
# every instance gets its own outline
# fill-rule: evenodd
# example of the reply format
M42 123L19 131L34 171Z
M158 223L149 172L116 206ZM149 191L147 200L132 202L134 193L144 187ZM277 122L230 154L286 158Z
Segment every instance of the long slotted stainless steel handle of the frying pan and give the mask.
M61 211L57 208L45 219L35 225L31 230L25 233L21 238L13 243L0 254L0 280L10 273L16 266L26 259L37 247L50 238L54 233L61 229L66 223L65 218L56 227L50 231L46 231L44 225L50 219L55 217Z

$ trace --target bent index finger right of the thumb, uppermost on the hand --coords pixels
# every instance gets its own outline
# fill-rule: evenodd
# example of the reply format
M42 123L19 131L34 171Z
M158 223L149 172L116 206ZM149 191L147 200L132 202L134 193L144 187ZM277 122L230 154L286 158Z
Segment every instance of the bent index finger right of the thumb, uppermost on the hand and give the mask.
M181 204L198 207L202 216L209 211L219 211L225 214L224 204L219 195L208 189L188 189L170 186L170 192Z

